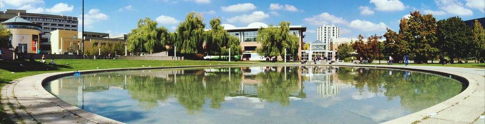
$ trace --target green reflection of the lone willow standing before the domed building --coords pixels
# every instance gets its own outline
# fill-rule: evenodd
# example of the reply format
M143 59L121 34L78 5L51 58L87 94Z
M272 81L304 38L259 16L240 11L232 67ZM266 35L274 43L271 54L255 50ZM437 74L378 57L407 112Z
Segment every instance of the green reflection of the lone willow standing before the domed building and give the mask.
M299 67L270 68L276 68L277 71L266 71L257 75L262 83L262 86L258 87L259 98L266 99L269 102L279 101L282 106L288 106L290 105L290 96L293 96L292 93L296 93L294 96L306 97L303 90L299 89ZM286 71L286 77L284 71Z

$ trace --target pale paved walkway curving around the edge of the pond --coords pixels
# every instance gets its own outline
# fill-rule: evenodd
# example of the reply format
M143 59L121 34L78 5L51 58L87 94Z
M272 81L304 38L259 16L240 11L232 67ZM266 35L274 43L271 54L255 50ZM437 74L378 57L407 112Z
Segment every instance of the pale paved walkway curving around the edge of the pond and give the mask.
M260 64L264 65L264 64ZM268 65L268 64L266 64ZM272 65L309 65L320 66L329 64L295 64L295 63L272 63ZM364 66L364 67L384 67L401 69L420 69L436 73L448 73L455 76L464 77L469 81L469 87L462 93L428 109L394 119L385 124L411 124L420 122L422 124L469 124L484 122L483 119L475 121L485 112L485 69L478 68L458 68L458 67L439 67L439 66L404 66L404 65L361 65L353 63L339 62L332 65L339 66ZM213 65L213 66L235 66L235 65ZM241 65L248 66L248 65ZM201 66L180 66L180 67L201 67ZM123 68L106 70L81 71L83 74L134 70L134 69L158 69L175 67L152 67L152 68ZM27 124L36 123L55 123L55 124L121 124L121 122L99 116L94 113L86 112L76 106L72 106L54 95L48 93L43 87L44 80L72 75L72 72L57 72L39 74L25 78L19 78L13 83L4 86L2 92L2 106L5 106L10 117L20 122L23 120ZM17 114L8 107L13 105ZM481 123L483 124L483 123Z

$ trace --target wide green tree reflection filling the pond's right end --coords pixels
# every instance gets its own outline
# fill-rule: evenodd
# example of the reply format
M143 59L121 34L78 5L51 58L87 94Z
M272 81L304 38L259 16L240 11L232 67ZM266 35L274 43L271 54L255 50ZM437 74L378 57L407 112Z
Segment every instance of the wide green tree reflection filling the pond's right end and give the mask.
M389 101L399 97L401 106L412 112L443 102L462 89L462 85L453 79L417 72L405 79L406 71L339 67L337 74L339 80L352 83L360 93L365 90L384 93Z

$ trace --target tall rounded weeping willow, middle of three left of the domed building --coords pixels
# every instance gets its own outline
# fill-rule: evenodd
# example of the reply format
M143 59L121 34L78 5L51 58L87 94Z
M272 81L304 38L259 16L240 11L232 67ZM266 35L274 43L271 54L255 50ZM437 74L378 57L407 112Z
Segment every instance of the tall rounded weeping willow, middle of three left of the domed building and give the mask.
M195 12L190 12L183 22L178 25L175 33L174 46L176 51L182 54L203 53L202 45L205 40L205 24L203 17Z

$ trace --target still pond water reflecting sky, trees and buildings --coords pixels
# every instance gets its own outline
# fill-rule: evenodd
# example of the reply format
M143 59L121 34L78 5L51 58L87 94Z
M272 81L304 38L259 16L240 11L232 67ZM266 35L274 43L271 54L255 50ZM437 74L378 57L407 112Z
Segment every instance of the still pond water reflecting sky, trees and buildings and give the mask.
M51 81L69 104L129 124L373 124L443 102L457 80L357 67L211 67Z

